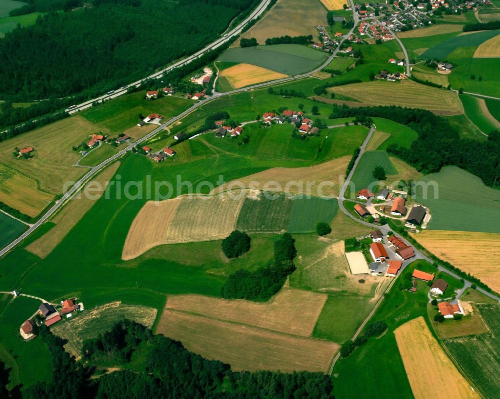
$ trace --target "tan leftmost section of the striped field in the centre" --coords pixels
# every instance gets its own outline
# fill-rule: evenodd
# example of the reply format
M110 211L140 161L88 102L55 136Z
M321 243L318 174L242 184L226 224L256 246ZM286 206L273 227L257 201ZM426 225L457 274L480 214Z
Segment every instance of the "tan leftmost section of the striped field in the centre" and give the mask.
M182 197L166 201L148 201L140 209L128 230L122 259L133 259L165 243L166 231Z

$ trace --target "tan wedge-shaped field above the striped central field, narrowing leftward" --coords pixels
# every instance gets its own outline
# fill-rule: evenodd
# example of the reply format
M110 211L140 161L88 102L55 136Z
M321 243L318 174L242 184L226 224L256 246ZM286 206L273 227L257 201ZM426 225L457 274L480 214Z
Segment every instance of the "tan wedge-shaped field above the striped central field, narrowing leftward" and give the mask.
M310 192L317 193L318 185L323 181L331 181L335 184L333 186L325 185L322 187L322 195L324 196L338 196L340 190L339 179L345 175L345 168L349 163L350 156L333 159L328 162L323 162L314 166L306 166L302 168L270 168L262 172L254 173L245 176L241 179L233 180L223 186L219 186L213 190L213 193L224 190L226 187L231 187L236 183L241 184L243 187L250 189L263 189L265 183L276 181L279 187L288 188L287 192L290 194L305 194L305 184L294 185L290 182L309 182L313 183L310 186ZM266 191L274 191L273 186L266 189Z

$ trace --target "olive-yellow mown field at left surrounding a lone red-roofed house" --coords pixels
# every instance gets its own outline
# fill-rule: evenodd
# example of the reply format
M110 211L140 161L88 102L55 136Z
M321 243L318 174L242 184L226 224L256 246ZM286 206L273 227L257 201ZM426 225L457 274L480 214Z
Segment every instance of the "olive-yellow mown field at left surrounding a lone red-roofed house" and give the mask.
M71 146L97 131L99 128L88 120L71 116L1 142L0 158L4 165L36 180L40 189L60 194L65 182L77 180L85 171L73 166L80 156ZM34 149L32 158L12 156L15 147L28 146Z

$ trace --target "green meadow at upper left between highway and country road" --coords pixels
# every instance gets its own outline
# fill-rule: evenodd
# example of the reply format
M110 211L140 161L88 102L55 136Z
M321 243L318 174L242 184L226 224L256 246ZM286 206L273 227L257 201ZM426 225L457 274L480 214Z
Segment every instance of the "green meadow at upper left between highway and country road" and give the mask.
M125 94L79 114L110 134L116 134L135 126L140 121L139 114L147 116L156 112L164 117L163 121L167 121L193 104L191 100L175 96L163 96L147 101L144 96L144 91Z

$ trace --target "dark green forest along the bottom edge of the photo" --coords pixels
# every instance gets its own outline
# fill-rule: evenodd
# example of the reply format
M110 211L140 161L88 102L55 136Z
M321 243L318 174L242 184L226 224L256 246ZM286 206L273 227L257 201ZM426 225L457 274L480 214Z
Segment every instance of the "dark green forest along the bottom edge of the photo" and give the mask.
M38 339L38 338L37 338ZM85 341L83 360L75 362L63 349L64 342L42 326L39 339L47 345L54 375L8 393L8 371L0 362L2 399L331 399L332 386L323 373L233 372L230 366L187 351L181 343L153 335L140 324L124 320L92 341ZM126 370L126 362L139 351L144 372ZM101 365L124 370L99 375ZM101 373L102 374L102 373Z

